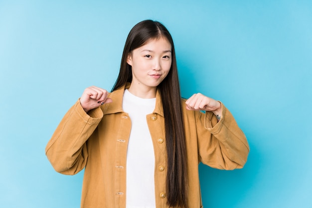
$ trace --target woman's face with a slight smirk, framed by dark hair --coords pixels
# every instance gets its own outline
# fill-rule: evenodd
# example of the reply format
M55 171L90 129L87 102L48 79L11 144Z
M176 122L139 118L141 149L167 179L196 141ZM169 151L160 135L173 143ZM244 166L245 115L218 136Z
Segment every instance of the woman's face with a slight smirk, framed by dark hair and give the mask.
M156 92L156 87L167 76L171 62L171 44L165 38L152 39L133 50L127 59L132 66L132 92Z

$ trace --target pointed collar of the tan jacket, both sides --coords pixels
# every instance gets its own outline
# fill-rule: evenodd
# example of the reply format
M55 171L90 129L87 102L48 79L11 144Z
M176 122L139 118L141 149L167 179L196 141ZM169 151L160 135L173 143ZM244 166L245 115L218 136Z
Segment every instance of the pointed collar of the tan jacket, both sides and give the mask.
M125 89L130 88L131 83L127 83L123 87L119 88L118 90L115 90L114 92L110 93L108 95L109 98L113 100L113 103L104 104L101 106L104 115L105 114L112 114L112 113L118 113L118 112L124 112L123 110L123 97ZM162 103L161 103L161 97L160 93L157 90L156 91L156 105L153 113L157 113L163 117L163 109L162 109Z

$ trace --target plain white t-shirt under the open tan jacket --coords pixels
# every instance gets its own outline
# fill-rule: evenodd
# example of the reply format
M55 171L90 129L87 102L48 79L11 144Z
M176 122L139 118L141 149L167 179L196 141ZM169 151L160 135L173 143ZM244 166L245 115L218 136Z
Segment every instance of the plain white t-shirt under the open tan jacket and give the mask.
M131 119L127 150L126 208L156 208L155 155L147 114L154 111L156 98L142 99L125 90L123 110Z

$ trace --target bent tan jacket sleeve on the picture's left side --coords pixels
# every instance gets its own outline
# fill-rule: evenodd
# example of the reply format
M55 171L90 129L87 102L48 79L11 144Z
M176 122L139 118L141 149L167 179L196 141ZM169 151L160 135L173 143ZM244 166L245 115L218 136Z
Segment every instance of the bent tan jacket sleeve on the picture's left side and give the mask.
M86 141L102 117L99 107L87 114L79 101L68 110L45 148L46 156L57 172L74 175L85 167Z

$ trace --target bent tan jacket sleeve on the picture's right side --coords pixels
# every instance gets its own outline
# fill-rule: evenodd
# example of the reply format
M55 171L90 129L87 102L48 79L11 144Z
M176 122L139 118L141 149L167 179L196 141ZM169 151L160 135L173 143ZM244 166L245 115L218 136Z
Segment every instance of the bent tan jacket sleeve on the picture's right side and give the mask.
M210 112L198 112L196 121L199 161L217 169L242 168L249 154L249 145L232 113L222 104L219 122Z

